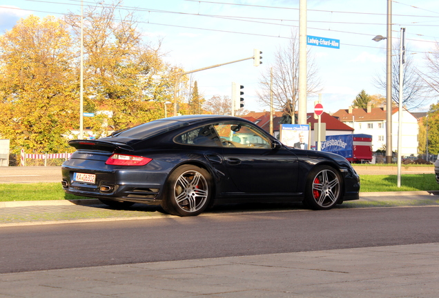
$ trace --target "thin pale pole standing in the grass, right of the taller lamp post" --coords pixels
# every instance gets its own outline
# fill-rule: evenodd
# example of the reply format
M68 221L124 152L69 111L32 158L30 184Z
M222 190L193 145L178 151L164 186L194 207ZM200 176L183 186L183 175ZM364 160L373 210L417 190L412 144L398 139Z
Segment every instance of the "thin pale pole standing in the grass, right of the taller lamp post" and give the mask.
M398 99L398 179L396 186L401 187L401 150L402 150L402 99L404 88L404 54L405 54L405 28L401 28L400 37L400 95Z

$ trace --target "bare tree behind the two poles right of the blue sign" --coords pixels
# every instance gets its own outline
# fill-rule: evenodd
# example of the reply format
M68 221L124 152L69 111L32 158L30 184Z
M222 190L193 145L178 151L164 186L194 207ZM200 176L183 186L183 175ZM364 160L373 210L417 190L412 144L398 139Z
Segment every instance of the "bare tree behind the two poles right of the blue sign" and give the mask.
M400 44L393 48L392 56L392 100L395 103L400 102ZM407 52L407 50L406 50ZM418 70L413 66L413 56L406 54L404 63L404 77L402 78L403 90L402 104L407 108L418 108L422 106L426 97L425 83ZM373 79L375 86L386 90L385 68L377 77Z

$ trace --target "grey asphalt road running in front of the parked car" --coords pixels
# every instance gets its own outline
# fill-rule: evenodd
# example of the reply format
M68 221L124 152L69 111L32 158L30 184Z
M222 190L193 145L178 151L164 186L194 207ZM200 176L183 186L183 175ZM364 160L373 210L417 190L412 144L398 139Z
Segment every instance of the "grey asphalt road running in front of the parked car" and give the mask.
M439 242L438 207L3 227L0 273Z

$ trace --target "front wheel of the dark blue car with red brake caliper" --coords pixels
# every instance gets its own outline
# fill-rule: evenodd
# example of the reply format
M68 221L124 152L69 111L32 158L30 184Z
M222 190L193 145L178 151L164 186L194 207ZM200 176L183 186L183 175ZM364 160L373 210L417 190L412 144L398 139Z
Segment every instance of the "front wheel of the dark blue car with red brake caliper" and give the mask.
M328 210L342 201L342 179L330 166L318 166L306 179L304 205L313 210Z

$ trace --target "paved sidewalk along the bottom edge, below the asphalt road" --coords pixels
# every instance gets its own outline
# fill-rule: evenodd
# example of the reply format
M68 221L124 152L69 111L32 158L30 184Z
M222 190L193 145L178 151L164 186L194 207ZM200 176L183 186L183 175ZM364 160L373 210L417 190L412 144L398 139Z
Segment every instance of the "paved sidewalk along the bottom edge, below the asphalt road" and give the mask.
M0 297L423 297L439 244L162 261L0 275Z

